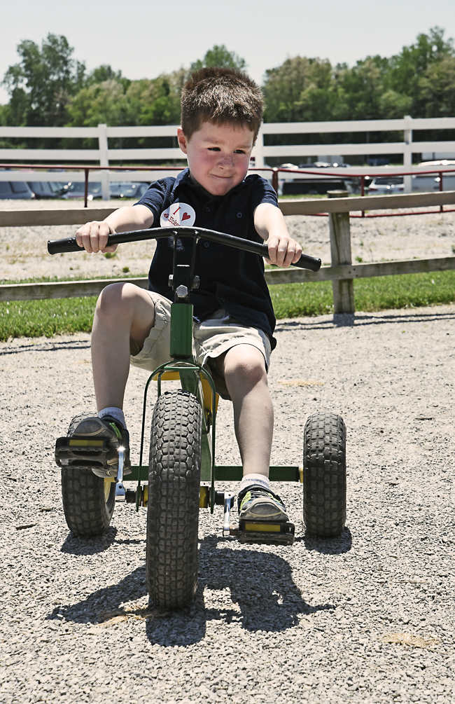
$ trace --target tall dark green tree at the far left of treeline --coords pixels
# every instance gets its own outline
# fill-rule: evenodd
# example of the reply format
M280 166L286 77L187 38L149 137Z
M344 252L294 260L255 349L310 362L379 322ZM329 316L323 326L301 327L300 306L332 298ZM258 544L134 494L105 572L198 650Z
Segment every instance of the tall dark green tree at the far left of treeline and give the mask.
M41 48L30 39L20 42L20 62L10 66L3 83L10 94L8 121L15 125L58 127L67 106L84 84L85 65L72 58L68 39L48 34Z

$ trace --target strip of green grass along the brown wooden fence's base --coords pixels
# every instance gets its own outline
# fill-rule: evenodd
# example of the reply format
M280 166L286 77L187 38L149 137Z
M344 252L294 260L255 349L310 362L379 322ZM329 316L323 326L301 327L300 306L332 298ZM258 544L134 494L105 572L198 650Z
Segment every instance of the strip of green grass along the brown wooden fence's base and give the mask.
M333 312L331 282L278 284L270 294L277 318ZM453 303L455 272L358 279L354 296L356 310L365 312ZM95 297L0 303L0 340L90 332L95 303Z

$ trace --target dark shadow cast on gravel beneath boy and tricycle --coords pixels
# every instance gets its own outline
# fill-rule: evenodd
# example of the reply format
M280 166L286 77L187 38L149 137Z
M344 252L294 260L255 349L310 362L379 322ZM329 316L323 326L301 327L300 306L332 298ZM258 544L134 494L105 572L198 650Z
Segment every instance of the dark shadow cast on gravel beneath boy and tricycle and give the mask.
M84 548L96 546L87 543L101 541L85 540L82 545L82 539L70 536L65 542L72 545L72 554L91 554ZM73 605L56 606L47 618L53 619L59 613L67 621L99 624L106 629L120 621L147 619L146 635L150 643L189 646L204 639L209 620L218 621L220 627L238 622L253 633L281 633L298 627L300 615L335 608L329 603L309 605L293 582L290 565L280 555L255 546L233 548L230 543L231 539L218 540L217 536L202 541L198 591L194 601L183 610L163 612L153 605L122 607L146 596L146 568L141 565L117 584L96 589ZM207 607L205 598L209 593L210 607Z

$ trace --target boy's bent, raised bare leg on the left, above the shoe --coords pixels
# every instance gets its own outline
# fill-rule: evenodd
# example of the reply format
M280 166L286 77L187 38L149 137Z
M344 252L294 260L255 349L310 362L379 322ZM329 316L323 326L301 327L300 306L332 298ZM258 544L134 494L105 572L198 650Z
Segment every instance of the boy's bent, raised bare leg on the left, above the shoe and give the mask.
M110 284L101 292L91 334L91 363L97 410L123 408L129 374L129 339L142 348L155 323L155 306L145 289Z

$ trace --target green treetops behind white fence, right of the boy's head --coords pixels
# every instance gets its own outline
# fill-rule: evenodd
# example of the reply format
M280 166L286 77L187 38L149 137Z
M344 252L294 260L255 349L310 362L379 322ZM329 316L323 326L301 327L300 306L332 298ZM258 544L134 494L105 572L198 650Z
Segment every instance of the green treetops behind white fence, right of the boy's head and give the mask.
M395 56L367 56L352 68L321 58L288 58L266 72L264 98L267 122L453 115L454 42L435 27Z

